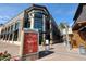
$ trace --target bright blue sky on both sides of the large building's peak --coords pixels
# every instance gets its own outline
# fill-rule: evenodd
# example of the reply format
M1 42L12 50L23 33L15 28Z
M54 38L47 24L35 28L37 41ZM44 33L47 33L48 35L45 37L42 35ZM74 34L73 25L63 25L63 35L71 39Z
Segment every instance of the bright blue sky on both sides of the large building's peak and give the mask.
M23 10L29 8L29 3L0 3L0 23L5 23ZM75 3L44 3L53 16L57 24L66 22L73 24L73 17L78 4Z

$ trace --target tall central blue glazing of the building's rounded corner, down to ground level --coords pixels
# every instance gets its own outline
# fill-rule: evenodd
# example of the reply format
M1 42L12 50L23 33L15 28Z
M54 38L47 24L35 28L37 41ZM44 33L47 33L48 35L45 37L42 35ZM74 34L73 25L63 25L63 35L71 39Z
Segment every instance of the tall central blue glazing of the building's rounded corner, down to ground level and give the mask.
M42 41L42 13L41 12L35 12L34 17L34 28L39 30L39 43Z

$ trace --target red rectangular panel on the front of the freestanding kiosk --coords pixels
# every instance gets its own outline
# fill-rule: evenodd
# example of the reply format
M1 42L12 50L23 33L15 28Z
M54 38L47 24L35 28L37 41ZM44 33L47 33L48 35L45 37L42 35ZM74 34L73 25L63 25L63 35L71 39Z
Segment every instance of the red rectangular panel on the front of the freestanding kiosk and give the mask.
M37 33L24 33L24 47L23 54L29 54L38 52L38 34Z

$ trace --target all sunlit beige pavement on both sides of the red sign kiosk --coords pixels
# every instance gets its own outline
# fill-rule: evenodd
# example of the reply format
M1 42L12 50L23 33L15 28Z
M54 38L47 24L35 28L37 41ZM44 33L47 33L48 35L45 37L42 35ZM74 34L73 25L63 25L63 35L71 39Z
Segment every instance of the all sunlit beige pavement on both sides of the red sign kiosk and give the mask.
M0 52L8 50L11 54L19 54L20 46L11 43L0 43ZM16 51L16 52L15 52ZM39 47L40 57L37 61L86 61L86 55L79 55L78 50L67 50L63 43L56 43L49 50L49 54L45 54L45 47Z

